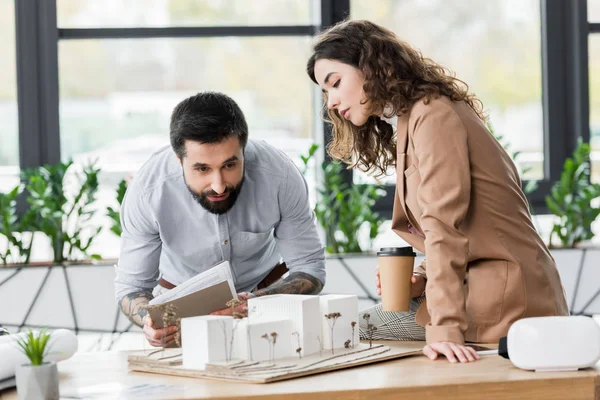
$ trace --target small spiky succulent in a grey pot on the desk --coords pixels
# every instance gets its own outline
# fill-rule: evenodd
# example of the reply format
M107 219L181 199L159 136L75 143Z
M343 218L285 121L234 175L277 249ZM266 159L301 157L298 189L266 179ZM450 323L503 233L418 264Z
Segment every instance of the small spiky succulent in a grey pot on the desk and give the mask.
M16 340L29 359L29 364L16 368L17 392L21 400L58 400L58 369L56 363L44 361L48 355L50 333L31 330Z

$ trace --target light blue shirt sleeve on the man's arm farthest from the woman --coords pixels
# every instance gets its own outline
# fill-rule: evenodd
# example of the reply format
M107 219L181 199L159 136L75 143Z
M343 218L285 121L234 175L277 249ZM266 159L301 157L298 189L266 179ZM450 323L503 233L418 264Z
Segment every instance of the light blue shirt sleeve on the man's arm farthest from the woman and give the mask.
M148 195L135 180L121 206L121 251L116 268L115 294L121 301L129 293L152 290L158 283L162 242Z

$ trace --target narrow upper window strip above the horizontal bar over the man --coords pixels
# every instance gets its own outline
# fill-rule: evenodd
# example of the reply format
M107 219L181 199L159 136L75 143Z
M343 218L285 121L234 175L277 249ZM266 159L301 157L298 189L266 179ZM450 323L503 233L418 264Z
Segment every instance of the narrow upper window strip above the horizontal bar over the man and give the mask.
M297 0L57 0L60 28L309 25Z

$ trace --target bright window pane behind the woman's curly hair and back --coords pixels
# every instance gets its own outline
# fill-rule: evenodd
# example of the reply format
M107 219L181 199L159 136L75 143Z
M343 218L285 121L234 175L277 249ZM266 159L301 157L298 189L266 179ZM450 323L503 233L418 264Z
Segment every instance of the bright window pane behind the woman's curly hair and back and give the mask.
M394 31L454 71L483 102L524 179L543 176L539 0L351 0L351 17ZM393 182L389 177L387 182ZM355 174L355 181L364 177Z

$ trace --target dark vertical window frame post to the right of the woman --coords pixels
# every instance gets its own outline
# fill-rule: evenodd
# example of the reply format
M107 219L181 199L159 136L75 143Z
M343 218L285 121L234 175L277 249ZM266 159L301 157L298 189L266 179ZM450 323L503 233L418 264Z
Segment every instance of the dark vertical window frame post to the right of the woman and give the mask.
M585 1L540 0L542 48L542 112L544 178L528 195L532 212L548 213L545 198L560 179L563 164L581 137L588 142L588 22ZM600 24L589 24L589 30ZM595 26L594 26L595 25ZM523 181L523 187L528 181ZM384 185L386 196L375 209L391 218L395 185Z

